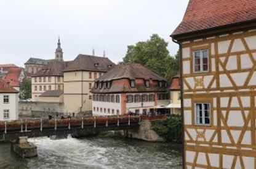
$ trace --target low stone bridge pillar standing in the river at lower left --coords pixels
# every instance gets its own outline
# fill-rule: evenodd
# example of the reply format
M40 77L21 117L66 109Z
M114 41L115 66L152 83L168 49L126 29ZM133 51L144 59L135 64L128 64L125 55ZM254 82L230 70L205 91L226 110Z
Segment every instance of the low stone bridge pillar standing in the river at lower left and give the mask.
M10 151L15 152L23 158L38 156L38 150L33 143L28 143L28 137L19 137L10 141Z

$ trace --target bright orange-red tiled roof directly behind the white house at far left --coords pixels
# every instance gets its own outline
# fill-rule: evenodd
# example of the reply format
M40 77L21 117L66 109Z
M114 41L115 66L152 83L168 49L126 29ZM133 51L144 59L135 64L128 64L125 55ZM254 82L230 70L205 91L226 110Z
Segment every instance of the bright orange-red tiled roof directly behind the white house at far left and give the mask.
M4 77L4 81L10 84L12 87L20 86L20 73L22 69L20 67L10 67L6 76Z

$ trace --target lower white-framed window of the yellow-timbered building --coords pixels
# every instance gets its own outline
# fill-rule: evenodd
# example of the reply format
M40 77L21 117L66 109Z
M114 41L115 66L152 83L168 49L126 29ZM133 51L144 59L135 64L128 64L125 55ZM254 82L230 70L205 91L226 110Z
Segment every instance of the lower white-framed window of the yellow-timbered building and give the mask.
M197 125L210 125L210 103L196 103L195 112Z

